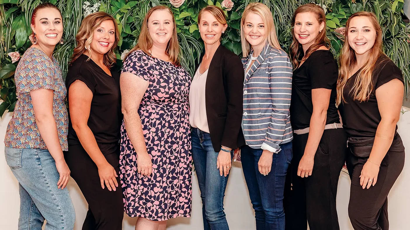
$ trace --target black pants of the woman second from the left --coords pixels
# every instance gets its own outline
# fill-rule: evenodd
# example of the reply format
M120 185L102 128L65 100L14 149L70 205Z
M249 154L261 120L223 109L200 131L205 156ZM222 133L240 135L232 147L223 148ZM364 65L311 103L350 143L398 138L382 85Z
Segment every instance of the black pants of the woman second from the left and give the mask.
M99 145L105 159L116 170L119 176L119 146L107 147L109 154L105 154L105 146ZM98 167L84 150L82 145L70 145L65 153L67 165L71 170L71 177L77 182L88 203L87 217L82 230L121 230L124 217L123 193L119 177L116 191L109 191L107 186L101 188Z

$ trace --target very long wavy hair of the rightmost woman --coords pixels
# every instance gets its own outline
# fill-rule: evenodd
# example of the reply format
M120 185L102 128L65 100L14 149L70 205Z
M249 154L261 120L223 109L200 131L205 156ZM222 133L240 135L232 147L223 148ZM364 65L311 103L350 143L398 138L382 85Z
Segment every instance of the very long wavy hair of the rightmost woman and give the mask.
M377 59L383 55L382 51L382 29L376 19L376 15L374 13L369 12L357 12L354 13L346 22L346 32L344 35L344 45L342 48L342 54L340 56L340 70L339 70L339 78L337 79L337 98L336 103L340 105L342 100L345 102L343 97L343 89L346 86L348 78L354 74L352 73L353 67L357 64L355 51L350 47L348 42L348 29L350 22L353 18L356 17L367 17L369 18L371 24L373 24L374 29L376 30L376 40L374 42L373 47L369 50L369 55L367 58L367 62L364 63L363 67L358 72L358 75L355 80L355 84L350 92L353 92L354 100L358 100L360 102L367 101L369 96L373 90L373 70L378 63L376 63ZM349 93L350 93L349 92Z

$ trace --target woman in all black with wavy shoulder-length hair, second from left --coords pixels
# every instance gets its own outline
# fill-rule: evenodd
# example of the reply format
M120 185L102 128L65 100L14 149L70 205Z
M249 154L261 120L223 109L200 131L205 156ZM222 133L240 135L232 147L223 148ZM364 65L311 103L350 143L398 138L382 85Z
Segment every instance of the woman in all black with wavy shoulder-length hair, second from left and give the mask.
M121 230L120 74L111 69L119 31L112 16L96 12L82 20L76 39L66 78L70 122L65 159L89 207L82 229Z

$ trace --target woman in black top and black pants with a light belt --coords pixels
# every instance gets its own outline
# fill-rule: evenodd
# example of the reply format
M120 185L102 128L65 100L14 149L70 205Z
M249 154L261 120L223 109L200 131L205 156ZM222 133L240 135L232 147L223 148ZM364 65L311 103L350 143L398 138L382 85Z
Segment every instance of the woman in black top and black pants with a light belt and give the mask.
M287 230L339 230L337 183L345 161L346 134L336 108L337 62L327 48L326 18L316 4L294 13L290 121L293 159L285 184Z

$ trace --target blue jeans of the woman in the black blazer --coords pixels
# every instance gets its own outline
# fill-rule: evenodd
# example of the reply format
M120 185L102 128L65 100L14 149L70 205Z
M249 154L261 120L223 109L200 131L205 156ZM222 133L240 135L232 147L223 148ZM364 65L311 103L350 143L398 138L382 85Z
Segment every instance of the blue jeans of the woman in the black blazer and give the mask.
M216 168L219 152L215 152L212 147L209 133L192 128L191 136L192 159L202 199L204 230L229 230L223 212L223 197L228 176L221 176L219 169Z

